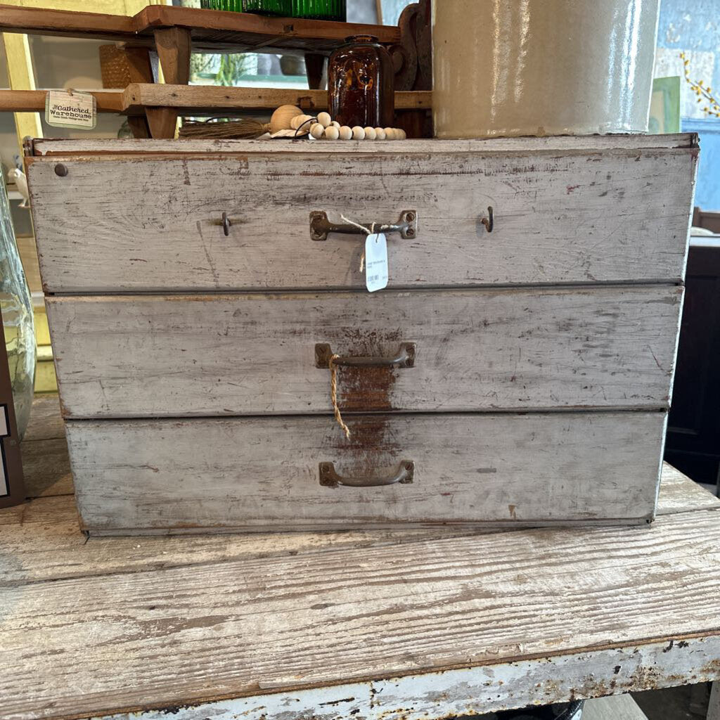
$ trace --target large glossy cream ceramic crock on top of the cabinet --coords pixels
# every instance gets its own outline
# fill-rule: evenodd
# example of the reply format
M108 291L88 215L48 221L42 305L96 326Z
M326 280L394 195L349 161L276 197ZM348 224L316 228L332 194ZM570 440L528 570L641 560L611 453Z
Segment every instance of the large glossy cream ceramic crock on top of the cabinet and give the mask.
M646 132L659 0L433 0L438 138Z

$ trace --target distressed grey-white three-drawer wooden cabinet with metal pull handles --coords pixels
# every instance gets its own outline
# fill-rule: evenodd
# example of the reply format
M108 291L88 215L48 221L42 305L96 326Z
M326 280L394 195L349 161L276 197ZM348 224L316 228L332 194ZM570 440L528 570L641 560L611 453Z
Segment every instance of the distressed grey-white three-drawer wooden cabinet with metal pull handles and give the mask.
M693 135L37 141L84 528L651 520L697 154ZM326 232L341 216L399 225L385 291L364 289L364 235ZM349 439L328 352L372 359L338 369Z

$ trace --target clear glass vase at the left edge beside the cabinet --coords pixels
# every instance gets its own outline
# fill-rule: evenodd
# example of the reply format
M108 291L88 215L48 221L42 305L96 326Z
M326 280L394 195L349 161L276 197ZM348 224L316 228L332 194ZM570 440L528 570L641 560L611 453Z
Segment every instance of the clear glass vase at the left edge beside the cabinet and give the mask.
M12 398L15 404L17 432L25 434L32 393L35 389L35 320L25 273L17 251L10 217L5 179L0 171L0 307L5 331L5 346L10 366Z

